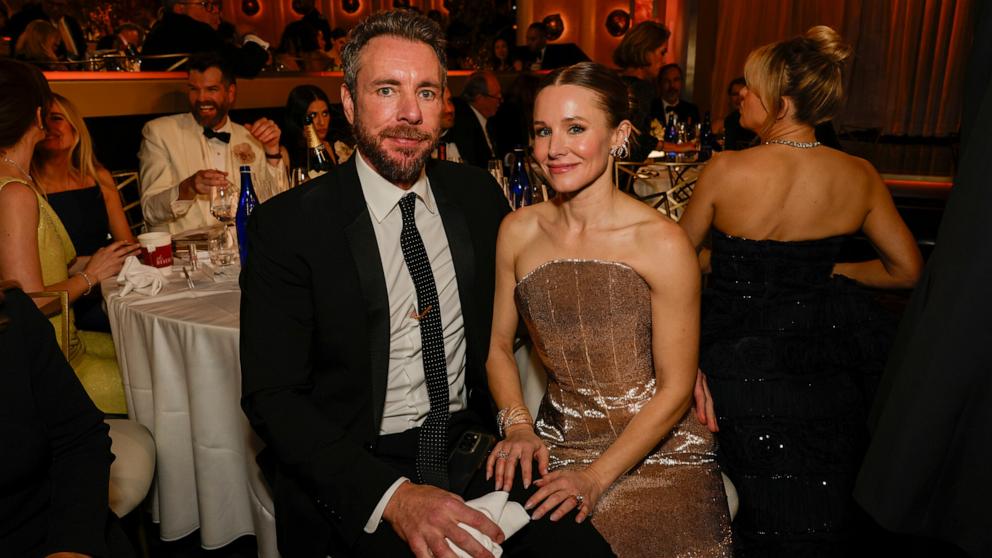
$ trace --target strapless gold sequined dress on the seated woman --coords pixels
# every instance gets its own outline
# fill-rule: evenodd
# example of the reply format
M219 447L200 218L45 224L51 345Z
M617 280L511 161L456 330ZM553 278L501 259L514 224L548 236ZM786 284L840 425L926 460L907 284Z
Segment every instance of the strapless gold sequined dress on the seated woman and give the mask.
M550 468L592 463L654 395L651 297L627 265L553 260L517 283L548 372L536 429ZM730 556L713 435L691 412L603 494L592 522L621 558Z

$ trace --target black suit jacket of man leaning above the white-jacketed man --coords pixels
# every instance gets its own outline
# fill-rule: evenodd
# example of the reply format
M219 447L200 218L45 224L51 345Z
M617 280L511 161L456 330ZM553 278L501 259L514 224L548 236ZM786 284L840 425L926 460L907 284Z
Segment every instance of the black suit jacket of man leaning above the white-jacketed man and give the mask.
M246 42L243 46L233 45L206 23L187 15L166 12L155 24L141 49L142 56L152 54L177 54L198 52L220 52L241 77L254 77L268 62L269 54L261 46ZM160 72L175 64L178 58L142 59L141 69Z

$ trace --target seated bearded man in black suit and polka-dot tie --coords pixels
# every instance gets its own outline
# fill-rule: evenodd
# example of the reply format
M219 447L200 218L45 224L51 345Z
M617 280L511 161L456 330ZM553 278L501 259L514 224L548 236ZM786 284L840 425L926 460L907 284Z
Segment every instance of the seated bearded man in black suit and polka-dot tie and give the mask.
M491 557L458 523L503 541L442 488L460 435L492 423L485 360L507 212L488 173L428 162L442 45L410 11L360 23L342 54L355 156L259 206L248 226L242 406L267 444L259 464L287 558L454 556L446 539ZM491 489L476 471L462 495ZM574 517L531 522L510 543L609 554Z

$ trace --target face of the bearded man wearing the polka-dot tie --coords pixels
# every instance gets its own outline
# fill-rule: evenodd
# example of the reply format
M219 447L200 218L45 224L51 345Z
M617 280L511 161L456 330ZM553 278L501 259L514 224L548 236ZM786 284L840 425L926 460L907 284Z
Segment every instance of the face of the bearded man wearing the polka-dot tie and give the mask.
M362 157L383 178L409 187L441 135L441 64L424 43L380 36L359 54L355 91L341 86Z

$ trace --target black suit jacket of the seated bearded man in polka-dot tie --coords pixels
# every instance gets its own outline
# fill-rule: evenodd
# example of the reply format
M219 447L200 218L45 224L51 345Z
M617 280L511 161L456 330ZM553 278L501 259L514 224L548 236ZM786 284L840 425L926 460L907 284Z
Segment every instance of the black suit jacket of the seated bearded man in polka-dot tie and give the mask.
M508 207L485 171L431 161L427 175L458 282L469 408L491 417L485 360L496 234ZM242 406L267 444L259 464L273 489L280 551L346 553L400 476L373 456L389 294L355 158L259 206L248 230Z

